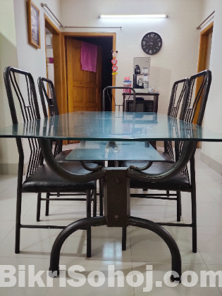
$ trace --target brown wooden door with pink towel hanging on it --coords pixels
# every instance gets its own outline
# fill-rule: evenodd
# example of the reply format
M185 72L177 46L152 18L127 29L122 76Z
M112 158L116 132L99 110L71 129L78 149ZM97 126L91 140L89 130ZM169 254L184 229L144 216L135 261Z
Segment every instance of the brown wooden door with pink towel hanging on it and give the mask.
M66 38L68 112L101 111L101 47L97 52L97 72L82 70L82 42Z

